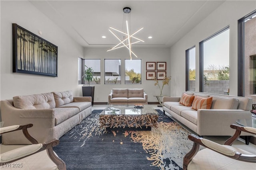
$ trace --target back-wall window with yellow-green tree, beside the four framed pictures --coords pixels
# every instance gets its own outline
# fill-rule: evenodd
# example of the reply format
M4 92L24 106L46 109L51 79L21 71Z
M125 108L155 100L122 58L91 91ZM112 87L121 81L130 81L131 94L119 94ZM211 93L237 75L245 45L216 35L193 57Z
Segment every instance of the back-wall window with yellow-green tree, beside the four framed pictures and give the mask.
M141 84L141 59L125 59L125 84Z

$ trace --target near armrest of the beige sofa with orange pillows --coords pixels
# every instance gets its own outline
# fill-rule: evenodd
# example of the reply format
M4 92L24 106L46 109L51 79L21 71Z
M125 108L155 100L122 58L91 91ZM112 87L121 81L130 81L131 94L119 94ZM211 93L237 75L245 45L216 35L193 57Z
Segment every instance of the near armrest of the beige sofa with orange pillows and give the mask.
M234 129L230 125L237 119L251 119L252 113L242 109L198 109L198 135L233 135ZM209 134L210 131L210 134Z

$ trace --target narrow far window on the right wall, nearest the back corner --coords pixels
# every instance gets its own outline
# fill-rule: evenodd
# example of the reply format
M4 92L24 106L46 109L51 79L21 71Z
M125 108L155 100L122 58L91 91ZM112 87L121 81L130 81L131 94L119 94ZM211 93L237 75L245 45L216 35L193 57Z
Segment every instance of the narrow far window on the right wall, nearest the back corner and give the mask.
M186 91L196 91L196 47L186 50Z

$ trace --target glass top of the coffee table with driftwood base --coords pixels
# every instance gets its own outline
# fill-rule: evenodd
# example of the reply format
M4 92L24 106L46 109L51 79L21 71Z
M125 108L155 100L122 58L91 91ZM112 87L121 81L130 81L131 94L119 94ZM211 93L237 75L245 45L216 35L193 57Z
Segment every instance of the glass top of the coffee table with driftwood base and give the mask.
M100 115L158 115L159 113L150 105L143 107L134 105L108 105Z

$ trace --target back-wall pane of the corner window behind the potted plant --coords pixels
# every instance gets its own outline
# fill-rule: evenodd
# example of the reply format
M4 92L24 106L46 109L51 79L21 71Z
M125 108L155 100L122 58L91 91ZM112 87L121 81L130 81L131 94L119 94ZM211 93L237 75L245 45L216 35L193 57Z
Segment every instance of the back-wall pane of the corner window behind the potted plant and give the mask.
M93 81L90 84L100 84L100 59L84 59L84 69L92 67ZM88 84L87 81L84 84Z

